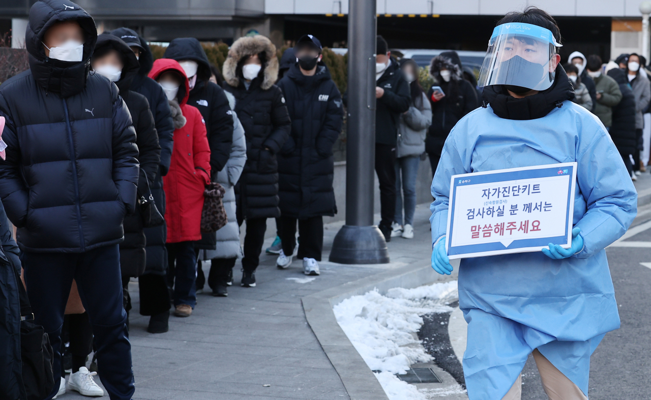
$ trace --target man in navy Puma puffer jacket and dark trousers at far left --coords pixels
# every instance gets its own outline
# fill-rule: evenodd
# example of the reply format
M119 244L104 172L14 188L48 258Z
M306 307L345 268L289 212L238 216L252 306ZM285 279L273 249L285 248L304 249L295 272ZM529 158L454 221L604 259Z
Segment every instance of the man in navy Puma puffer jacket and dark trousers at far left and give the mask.
M112 399L132 398L131 345L122 307L122 220L135 210L139 175L132 118L118 88L89 73L93 19L75 3L36 1L25 45L30 68L0 87L0 198L18 227L27 295L53 350L62 388L61 326L72 281L94 333ZM35 106L40 105L40 106Z

